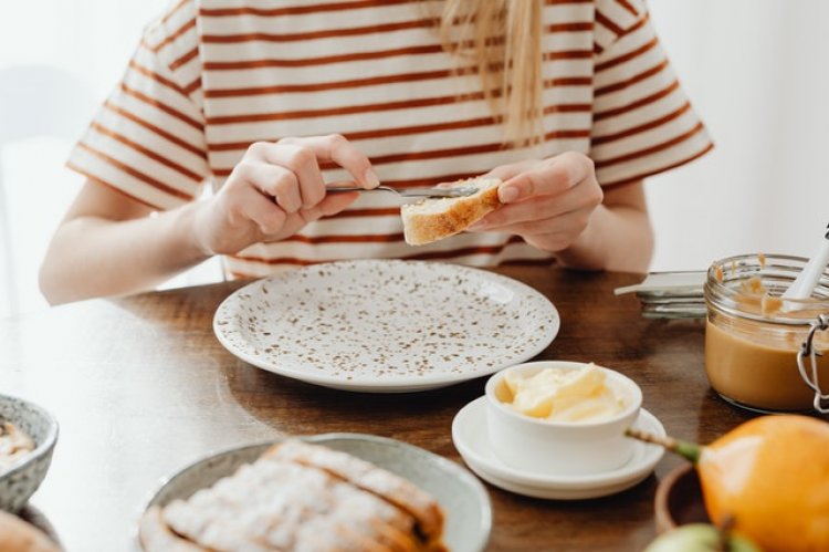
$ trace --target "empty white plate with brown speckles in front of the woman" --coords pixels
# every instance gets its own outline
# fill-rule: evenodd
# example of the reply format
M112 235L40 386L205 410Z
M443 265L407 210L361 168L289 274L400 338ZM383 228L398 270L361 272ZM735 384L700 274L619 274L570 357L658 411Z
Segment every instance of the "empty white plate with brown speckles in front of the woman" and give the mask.
M541 293L492 272L436 262L317 264L253 282L213 330L238 357L359 392L442 387L532 358L555 337Z

